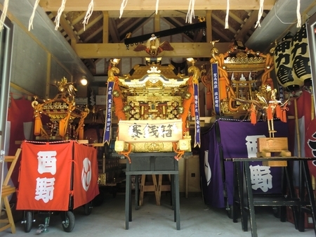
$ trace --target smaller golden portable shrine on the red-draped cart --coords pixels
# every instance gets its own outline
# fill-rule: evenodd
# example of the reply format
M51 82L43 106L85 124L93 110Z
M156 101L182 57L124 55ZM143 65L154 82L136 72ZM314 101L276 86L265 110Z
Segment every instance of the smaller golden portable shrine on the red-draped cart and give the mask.
M88 108L76 105L74 98L77 89L65 77L57 87L58 94L52 99L34 97L34 135L47 140L84 139L84 119L89 113ZM47 115L50 122L43 125L41 115ZM77 127L72 125L75 119L79 119Z

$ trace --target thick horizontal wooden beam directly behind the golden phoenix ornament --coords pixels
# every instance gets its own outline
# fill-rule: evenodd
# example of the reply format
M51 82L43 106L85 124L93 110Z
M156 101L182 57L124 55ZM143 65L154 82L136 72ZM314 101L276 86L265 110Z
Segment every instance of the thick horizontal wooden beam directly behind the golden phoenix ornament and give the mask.
M231 43L217 43L220 53L229 49ZM171 43L173 51L163 51L159 56L168 58L209 58L211 56L210 43ZM76 44L74 51L79 58L145 58L145 51L133 51L135 46L126 49L125 44Z

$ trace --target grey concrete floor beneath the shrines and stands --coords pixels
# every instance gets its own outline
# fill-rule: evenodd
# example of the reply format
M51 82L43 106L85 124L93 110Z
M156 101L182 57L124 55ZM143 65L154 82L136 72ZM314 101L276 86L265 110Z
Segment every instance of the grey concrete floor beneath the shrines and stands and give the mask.
M242 231L240 221L233 223L228 218L225 210L209 207L204 204L199 194L189 194L185 198L180 195L180 230L176 230L176 223L173 222L173 210L170 207L169 194L162 193L162 205L155 204L154 195L145 193L144 204L139 210L133 208L133 222L129 224L129 230L125 229L124 214L124 193L117 193L115 198L110 193L105 195L102 205L93 207L92 213L84 215L84 208L74 210L75 226L72 232L66 233L62 229L59 215L52 215L47 233L40 233L41 236L129 236L129 237L247 237L251 232ZM37 228L41 224L40 219L33 224L32 230L25 233L24 226L19 218L22 213L15 214L16 233L12 234L11 229L0 232L0 237L7 236L34 236L37 235ZM259 237L287 236L304 237L315 236L313 229L306 229L299 232L294 224L279 222L272 214L271 207L256 210L256 219ZM250 230L250 226L249 226Z

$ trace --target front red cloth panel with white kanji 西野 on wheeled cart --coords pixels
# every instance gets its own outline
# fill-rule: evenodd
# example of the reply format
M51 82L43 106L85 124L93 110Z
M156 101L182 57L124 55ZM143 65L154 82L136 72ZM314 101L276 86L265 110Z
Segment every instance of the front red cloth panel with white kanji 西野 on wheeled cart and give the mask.
M22 143L17 210L69 210L73 143Z

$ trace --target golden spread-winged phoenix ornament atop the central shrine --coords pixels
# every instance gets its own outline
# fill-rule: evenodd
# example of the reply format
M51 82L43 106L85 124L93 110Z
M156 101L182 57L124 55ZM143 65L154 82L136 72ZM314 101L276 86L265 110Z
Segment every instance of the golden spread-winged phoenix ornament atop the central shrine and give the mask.
M138 44L134 51L145 51L151 57L156 58L159 53L162 53L162 51L173 51L173 47L169 41L164 41L160 44L159 39L152 34L152 37L147 40L146 44Z

